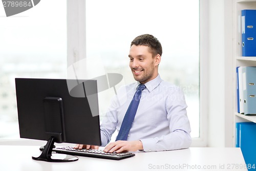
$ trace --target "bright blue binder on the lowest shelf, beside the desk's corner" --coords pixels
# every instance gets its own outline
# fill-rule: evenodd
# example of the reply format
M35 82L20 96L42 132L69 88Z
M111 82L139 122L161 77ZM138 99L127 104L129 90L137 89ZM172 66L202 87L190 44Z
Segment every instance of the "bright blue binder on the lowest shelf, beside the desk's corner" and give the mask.
M244 156L245 163L250 164L248 170L256 167L256 123L239 122L237 126L237 143Z

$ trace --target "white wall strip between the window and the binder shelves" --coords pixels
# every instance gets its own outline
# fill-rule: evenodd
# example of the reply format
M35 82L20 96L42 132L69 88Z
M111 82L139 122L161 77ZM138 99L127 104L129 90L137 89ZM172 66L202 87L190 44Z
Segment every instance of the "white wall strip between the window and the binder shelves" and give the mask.
M233 146L232 0L209 0L208 9L209 108L207 146L231 147Z

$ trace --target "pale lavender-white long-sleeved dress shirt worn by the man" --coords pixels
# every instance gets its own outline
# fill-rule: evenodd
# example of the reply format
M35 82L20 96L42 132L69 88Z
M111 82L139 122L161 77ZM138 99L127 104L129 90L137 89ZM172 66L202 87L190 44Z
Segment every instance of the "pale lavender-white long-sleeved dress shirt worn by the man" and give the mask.
M112 99L100 125L102 146L110 142L116 130L119 132L138 84L120 88ZM140 140L145 152L188 148L191 144L190 124L183 92L159 75L145 86L127 141Z

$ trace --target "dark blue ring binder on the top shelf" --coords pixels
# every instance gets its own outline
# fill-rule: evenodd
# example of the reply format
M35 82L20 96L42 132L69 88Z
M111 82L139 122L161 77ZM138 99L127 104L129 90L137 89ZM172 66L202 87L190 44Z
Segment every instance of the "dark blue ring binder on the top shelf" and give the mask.
M242 10L242 56L256 56L256 10Z

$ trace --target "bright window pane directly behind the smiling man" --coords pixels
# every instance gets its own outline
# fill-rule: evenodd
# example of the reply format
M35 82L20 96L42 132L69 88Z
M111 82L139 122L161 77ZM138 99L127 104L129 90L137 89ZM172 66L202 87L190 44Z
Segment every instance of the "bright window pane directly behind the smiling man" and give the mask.
M199 0L86 1L87 58L99 58L105 72L122 74L125 84L134 81L130 43L146 33L161 42L159 74L184 91L191 136L199 137ZM112 89L99 93L101 113L113 95Z

